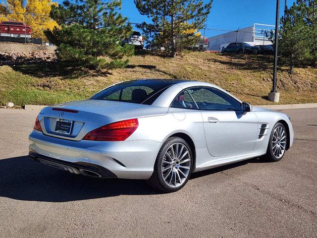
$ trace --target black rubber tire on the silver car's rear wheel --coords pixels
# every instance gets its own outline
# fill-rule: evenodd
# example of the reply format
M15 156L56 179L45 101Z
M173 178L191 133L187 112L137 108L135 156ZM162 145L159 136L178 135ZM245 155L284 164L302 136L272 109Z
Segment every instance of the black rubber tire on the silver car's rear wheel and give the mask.
M164 159L165 153L166 151L174 144L182 144L186 147L186 149L189 152L189 158L190 158L190 170L188 173L187 178L182 178L184 179L182 181L181 184L179 184L177 187L171 187L169 185L166 184L164 178L163 178L163 174L162 174L162 161L166 160ZM154 165L154 172L151 176L150 179L147 180L147 183L152 186L155 189L164 191L164 192L176 192L179 189L181 189L188 181L188 179L190 178L190 175L192 173L192 169L193 169L193 154L191 151L191 148L189 146L189 144L182 138L180 137L170 137L168 138L161 146L160 150L159 150L159 154L158 157L156 159L155 165ZM175 173L175 182L176 182L176 173Z

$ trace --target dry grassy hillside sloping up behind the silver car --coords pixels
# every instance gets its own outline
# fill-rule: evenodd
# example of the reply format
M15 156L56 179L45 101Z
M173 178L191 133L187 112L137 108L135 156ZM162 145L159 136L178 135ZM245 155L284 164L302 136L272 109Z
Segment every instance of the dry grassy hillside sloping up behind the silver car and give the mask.
M271 104L272 57L210 53L184 53L176 59L157 55L136 55L124 69L89 71L61 63L0 66L0 104L13 102L51 105L88 98L118 81L141 78L179 78L214 83L243 101ZM278 67L280 104L316 103L317 68Z

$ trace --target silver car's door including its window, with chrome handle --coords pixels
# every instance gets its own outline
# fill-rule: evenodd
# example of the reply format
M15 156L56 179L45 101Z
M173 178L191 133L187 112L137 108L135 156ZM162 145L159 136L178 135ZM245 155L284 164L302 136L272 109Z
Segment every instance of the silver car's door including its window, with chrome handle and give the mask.
M258 118L243 112L241 103L211 87L188 89L203 117L206 143L212 156L252 152L258 131Z

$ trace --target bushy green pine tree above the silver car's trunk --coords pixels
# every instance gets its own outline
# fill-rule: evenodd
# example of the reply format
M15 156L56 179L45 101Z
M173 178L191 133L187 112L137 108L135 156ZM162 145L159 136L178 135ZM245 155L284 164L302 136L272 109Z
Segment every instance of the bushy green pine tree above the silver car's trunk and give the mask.
M94 69L126 66L122 58L134 49L122 40L132 27L116 12L120 7L121 0L66 0L53 7L51 17L60 27L46 35L58 46L58 58Z

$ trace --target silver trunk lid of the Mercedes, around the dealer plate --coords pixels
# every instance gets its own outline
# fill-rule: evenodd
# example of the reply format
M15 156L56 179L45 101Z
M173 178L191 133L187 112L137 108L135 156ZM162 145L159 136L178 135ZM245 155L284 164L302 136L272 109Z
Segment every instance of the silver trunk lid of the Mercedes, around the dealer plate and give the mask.
M168 108L104 100L82 100L44 108L39 114L46 135L81 140L89 131L115 121L165 115ZM69 134L56 131L58 121L66 121ZM65 122L63 122L65 123Z

